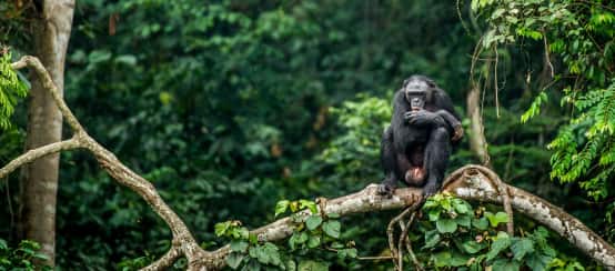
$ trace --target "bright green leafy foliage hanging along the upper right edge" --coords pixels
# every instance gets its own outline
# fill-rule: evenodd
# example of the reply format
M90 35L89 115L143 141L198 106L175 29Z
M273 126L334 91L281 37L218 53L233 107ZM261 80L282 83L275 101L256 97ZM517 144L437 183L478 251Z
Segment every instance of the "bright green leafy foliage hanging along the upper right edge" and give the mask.
M528 38L544 43L547 58L561 59L565 70L555 80L563 86L562 106L571 104L574 111L548 145L554 150L551 177L578 182L595 200L609 197L607 180L615 174L611 159L615 157L611 148L615 126L614 7L602 1L472 1L492 29L484 38L485 47ZM540 113L545 100L541 92L522 121Z

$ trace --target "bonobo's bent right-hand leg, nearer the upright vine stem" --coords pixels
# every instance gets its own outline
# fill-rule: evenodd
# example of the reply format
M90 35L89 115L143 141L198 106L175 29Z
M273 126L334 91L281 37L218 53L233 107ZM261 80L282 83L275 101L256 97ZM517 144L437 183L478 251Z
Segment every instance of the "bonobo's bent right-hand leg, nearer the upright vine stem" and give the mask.
M427 170L427 183L423 188L423 195L429 197L440 190L450 155L451 136L448 130L443 127L434 129L425 148L423 165Z

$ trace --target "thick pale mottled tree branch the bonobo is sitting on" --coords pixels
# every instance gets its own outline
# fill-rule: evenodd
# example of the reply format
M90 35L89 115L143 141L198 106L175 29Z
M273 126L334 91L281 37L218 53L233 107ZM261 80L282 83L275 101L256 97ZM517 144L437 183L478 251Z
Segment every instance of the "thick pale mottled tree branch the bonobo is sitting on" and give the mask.
M491 179L494 175L496 177L485 167L466 165L454 171L446 179L443 190L466 200L502 203L503 197L498 193L496 181ZM615 249L581 221L534 194L505 183L502 184L508 190L513 209L559 233L607 269L615 269ZM327 200L324 213L349 215L401 209L422 199L421 190L415 188L397 189L391 199L377 195L376 188L377 184L370 184L356 193ZM259 240L278 241L290 237L293 229L292 221L283 218L252 232L259 235ZM208 263L211 264L210 267L224 267L224 258L229 252L229 245L214 251L213 258L208 260Z

